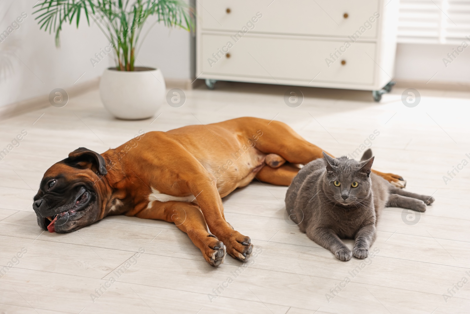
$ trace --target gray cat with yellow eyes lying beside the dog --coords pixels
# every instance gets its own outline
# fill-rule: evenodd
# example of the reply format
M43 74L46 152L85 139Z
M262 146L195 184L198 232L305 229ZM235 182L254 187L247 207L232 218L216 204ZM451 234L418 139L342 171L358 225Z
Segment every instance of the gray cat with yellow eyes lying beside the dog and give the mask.
M376 238L377 218L384 207L425 211L434 198L394 187L371 172L368 149L361 161L346 156L306 164L286 193L286 210L300 231L338 259L367 258ZM349 250L340 238L355 239Z

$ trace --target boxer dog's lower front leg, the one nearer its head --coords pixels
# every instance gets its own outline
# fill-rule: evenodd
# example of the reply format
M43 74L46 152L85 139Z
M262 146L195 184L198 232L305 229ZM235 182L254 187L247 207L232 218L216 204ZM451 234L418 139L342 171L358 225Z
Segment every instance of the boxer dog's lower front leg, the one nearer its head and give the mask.
M207 231L204 215L194 203L153 201L150 208L142 210L136 217L172 222L188 234L211 266L219 266L224 260L227 253L224 243Z

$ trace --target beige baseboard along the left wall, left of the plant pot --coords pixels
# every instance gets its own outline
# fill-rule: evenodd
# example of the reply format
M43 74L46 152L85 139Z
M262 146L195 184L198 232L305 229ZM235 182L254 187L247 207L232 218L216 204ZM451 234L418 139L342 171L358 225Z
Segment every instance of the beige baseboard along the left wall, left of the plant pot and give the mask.
M100 77L89 80L83 83L73 85L66 88L69 97L77 96L87 91L97 89L100 86ZM0 107L0 121L8 118L27 113L30 111L46 108L50 106L49 95L41 95L38 97L29 98L6 106Z

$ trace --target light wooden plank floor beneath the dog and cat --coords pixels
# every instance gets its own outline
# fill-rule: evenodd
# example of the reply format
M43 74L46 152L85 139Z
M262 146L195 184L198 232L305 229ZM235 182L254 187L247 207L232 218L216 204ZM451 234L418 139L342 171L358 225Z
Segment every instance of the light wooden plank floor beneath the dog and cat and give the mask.
M402 90L376 104L370 92L301 88L304 103L290 108L283 102L287 89L200 87L187 91L184 106L162 106L153 122L114 120L92 91L63 108L1 121L0 150L21 130L28 134L0 161L0 265L17 264L0 278L0 313L469 313L470 165L447 185L442 176L470 161L470 93L421 90L421 103L408 108ZM162 221L120 216L69 234L39 229L31 208L39 181L79 146L103 152L139 129L247 115L287 122L335 155L352 153L378 130L375 169L402 175L407 189L432 194L436 202L415 225L404 222L402 209L385 209L376 254L364 264L341 262L307 239L284 219L287 188L259 182L224 199L227 221L260 251L248 267L230 256L218 268L209 266L184 233ZM27 252L16 259L22 249ZM139 249L145 253L132 258ZM122 266L127 269L118 277ZM110 284L111 277L117 281ZM233 282L222 290L228 277ZM216 289L219 296L210 300ZM446 300L447 289L454 296Z

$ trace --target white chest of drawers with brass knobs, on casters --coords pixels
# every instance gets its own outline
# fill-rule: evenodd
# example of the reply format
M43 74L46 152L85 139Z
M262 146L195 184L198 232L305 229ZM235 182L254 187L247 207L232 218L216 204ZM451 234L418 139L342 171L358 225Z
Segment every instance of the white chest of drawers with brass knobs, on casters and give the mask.
M196 77L379 91L396 50L388 1L198 0Z

